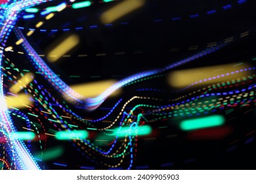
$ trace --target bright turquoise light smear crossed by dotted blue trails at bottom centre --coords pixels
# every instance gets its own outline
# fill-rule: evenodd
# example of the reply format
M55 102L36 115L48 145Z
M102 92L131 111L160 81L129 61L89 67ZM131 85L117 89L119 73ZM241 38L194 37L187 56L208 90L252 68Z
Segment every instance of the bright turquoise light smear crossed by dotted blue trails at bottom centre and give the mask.
M114 135L117 137L134 136L134 135L149 135L152 132L152 128L148 125L142 125L137 127L121 127L114 131Z

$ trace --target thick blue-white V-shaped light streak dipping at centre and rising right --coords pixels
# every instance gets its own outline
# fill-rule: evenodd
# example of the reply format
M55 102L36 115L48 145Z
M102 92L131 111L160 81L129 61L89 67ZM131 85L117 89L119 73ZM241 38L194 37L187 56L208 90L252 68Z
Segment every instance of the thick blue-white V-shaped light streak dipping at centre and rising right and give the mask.
M226 44L220 44L218 46L213 46L211 48L207 48L206 50L203 50L202 52L199 52L198 54L195 54L194 56L191 56L186 59L182 59L181 61L177 61L176 63L173 63L171 65L167 65L167 67L165 67L163 69L144 71L144 72L129 76L127 78L124 78L123 80L120 80L119 82L116 82L116 84L110 86L110 88L105 90L103 93L101 93L97 97L81 100L81 98L83 98L83 97L81 95L79 95L79 93L72 90L72 88L70 88L70 86L68 86L58 76L56 76L56 74L47 66L45 61L43 61L43 59L38 56L37 52L35 52L35 50L32 48L32 46L26 40L26 38L24 37L22 32L18 28L15 28L15 31L16 31L16 35L17 35L18 39L24 40L22 42L22 46L25 48L26 52L30 53L28 56L30 57L30 61L32 61L33 65L35 65L35 68L37 69L37 71L43 73L45 78L47 78L47 80L49 80L49 83L57 91L70 97L70 101L74 101L75 105L83 106L83 107L87 108L88 110L95 110L96 108L98 108L108 96L110 96L113 92L115 92L122 86L125 86L125 84L133 82L134 80L138 80L140 78L144 78L146 76L156 75L158 73L167 71L169 69L173 69L175 67L183 65L190 61L194 61L195 59L201 58L207 54L215 52L215 50L218 50L222 46L226 45Z

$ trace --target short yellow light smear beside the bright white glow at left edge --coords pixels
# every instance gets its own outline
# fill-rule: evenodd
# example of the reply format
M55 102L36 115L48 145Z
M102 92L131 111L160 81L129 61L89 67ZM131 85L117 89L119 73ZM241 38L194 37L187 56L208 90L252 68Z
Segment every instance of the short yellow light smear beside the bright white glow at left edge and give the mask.
M27 95L25 93L22 93L16 96L7 95L5 96L7 107L27 108L28 106L33 104L33 101L30 100L30 97L31 97L30 95Z

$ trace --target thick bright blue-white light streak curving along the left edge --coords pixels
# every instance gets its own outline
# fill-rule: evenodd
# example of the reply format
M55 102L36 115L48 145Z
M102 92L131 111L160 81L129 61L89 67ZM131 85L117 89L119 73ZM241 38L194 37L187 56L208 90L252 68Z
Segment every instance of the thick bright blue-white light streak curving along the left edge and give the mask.
M3 27L1 27L0 31L0 42L1 42L1 50L0 50L0 65L2 64L3 59L3 48L5 48L7 39L9 38L9 33L12 31L11 25L14 25L16 22L16 17L18 13L28 7L32 7L33 5L38 5L46 1L42 0L28 0L28 1L18 1L11 3L9 1L9 8L5 10L1 10L1 14L3 14ZM2 71L0 69L0 75L2 75ZM0 129L5 129L6 134L10 134L15 131L14 125L12 124L12 120L9 116L7 110L7 103L5 102L3 95L3 78L1 78L1 86L0 86ZM5 137L9 139L9 137ZM17 169L39 169L39 166L32 158L32 155L28 151L28 148L25 146L24 142L20 140L15 141L7 141L7 147L10 148L11 154L10 156L14 159L15 165Z

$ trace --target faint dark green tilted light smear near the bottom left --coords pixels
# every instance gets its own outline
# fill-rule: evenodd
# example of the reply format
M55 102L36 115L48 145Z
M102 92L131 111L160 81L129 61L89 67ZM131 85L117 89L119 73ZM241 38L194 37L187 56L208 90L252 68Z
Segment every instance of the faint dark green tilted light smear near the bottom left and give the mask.
M51 159L62 156L62 154L64 154L64 148L62 146L59 146L46 150L45 152L43 152L43 155L41 153L35 154L34 157L37 159L41 159L42 161L49 161Z

